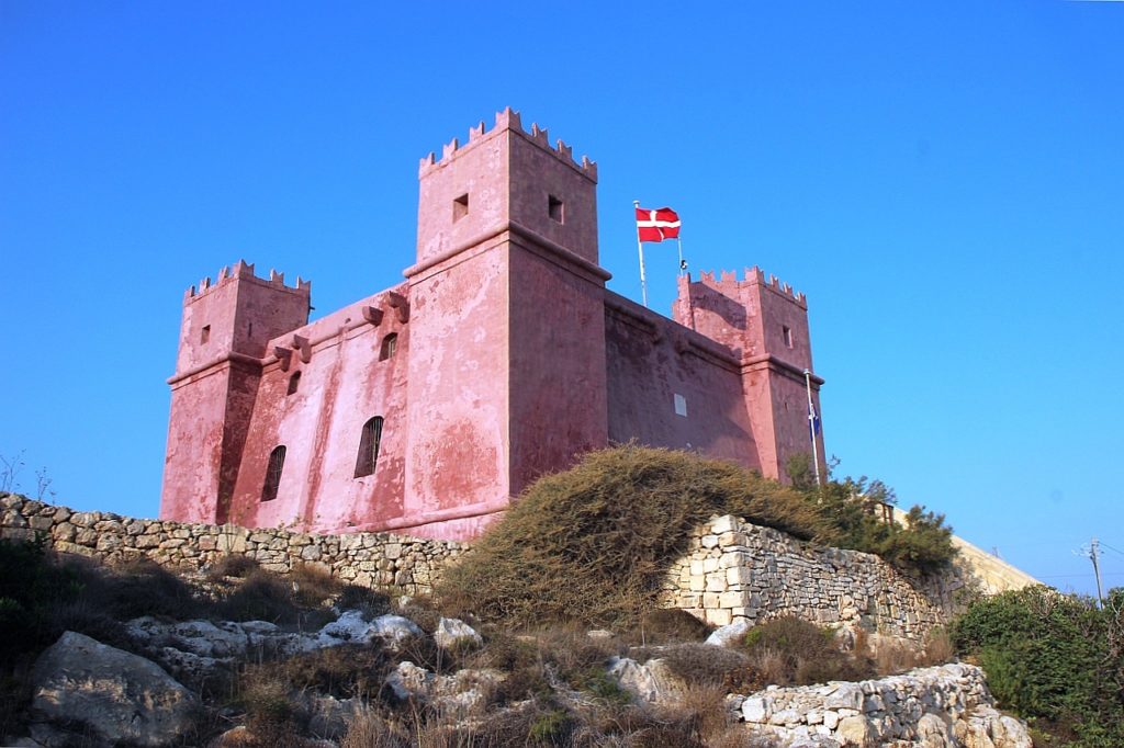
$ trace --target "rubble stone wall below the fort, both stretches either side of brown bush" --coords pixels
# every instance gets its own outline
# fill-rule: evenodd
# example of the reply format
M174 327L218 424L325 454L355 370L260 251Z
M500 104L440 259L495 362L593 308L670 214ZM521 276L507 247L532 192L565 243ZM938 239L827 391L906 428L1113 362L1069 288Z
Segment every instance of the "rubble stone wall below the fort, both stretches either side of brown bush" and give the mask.
M344 582L393 585L411 594L432 591L441 568L468 548L387 532L325 536L132 519L75 512L18 494L0 494L0 511L2 538L42 532L57 551L109 563L148 558L202 568L226 555L244 555L281 574L317 564ZM668 580L668 606L719 626L792 614L912 640L948 621L952 594L962 586L957 575L908 580L877 556L801 542L734 517L698 528Z

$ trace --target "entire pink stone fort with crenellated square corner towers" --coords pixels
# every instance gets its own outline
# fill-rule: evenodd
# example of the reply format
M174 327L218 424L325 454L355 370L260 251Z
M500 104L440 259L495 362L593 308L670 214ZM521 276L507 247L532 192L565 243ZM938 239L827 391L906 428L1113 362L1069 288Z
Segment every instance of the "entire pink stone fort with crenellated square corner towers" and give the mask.
M804 294L683 276L668 319L607 290L597 164L510 109L418 180L391 289L314 322L307 281L244 262L188 290L161 518L468 539L610 444L780 478L810 451Z

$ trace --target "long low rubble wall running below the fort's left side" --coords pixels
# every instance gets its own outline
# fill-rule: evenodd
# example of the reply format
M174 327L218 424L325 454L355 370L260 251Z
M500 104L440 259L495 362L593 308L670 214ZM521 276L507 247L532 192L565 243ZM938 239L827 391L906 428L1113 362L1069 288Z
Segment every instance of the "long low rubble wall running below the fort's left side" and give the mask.
M281 574L294 565L315 564L344 582L395 585L410 594L429 592L441 567L466 548L387 532L308 535L75 512L18 494L0 494L0 538L28 540L42 532L56 551L108 563L148 558L162 566L202 568L223 556L241 555Z

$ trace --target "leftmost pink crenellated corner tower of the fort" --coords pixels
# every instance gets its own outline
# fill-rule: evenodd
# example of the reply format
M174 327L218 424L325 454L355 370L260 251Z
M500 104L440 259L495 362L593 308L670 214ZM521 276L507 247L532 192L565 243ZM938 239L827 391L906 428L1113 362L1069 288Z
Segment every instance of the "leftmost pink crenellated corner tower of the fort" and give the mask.
M161 517L227 520L266 343L308 321L310 293L239 261L183 294Z

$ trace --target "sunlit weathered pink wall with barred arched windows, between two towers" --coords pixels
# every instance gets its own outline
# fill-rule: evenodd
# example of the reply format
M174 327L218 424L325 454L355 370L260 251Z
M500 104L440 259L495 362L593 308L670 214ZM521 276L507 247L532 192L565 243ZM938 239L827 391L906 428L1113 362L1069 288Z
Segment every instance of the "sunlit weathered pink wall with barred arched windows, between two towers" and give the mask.
M405 285L390 292L405 292ZM406 436L406 361L409 325L399 320L383 292L270 341L289 348L288 371L274 356L266 364L250 426L230 520L251 527L296 522L312 530L371 529L401 517ZM379 325L363 309L382 312ZM309 341L301 361L293 336ZM397 335L395 355L380 361L382 341ZM299 373L297 391L288 394ZM355 477L363 425L383 418L372 475ZM278 498L262 502L269 455L287 447Z

